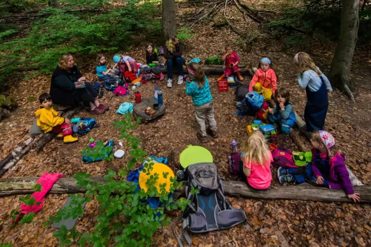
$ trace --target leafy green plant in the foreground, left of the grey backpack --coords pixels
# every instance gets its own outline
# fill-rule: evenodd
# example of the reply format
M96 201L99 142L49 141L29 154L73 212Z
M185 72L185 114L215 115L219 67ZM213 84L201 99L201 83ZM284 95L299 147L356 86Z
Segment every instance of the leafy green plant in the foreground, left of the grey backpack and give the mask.
M147 155L140 148L140 139L130 133L139 123L134 122L132 116L127 114L122 120L113 122L119 129L120 138L125 139L126 148L130 154L130 160L119 172L108 170L103 177L104 181L97 182L92 180L90 174L83 172L73 176L77 180L79 188L85 187L85 196L80 194L72 195L69 206L60 209L56 216L49 218L45 223L49 225L51 221L60 222L68 217L76 218L83 216L83 203L92 200L98 201L99 216L96 220L94 230L90 233L80 233L72 228L70 231L62 226L54 233L61 246L89 245L103 247L115 243L116 246L150 246L153 234L163 225L168 225L170 218L165 216L165 210L184 210L189 201L173 198L173 192L181 183L177 183L176 178L170 178L170 193L166 191L166 184L160 184L157 188L154 185L159 180L160 174L153 173L153 162L145 162L141 172L146 173L149 179L146 181L148 189L138 189L132 182L126 181L128 173L138 167ZM110 148L112 149L112 148ZM95 147L93 152L88 148L84 155L97 157L99 152L106 154L109 150L102 147ZM84 152L83 152L84 153ZM93 158L94 158L93 157ZM111 159L110 155L104 155L104 160ZM162 174L167 178L168 173ZM160 205L154 209L147 202L150 197L159 197Z

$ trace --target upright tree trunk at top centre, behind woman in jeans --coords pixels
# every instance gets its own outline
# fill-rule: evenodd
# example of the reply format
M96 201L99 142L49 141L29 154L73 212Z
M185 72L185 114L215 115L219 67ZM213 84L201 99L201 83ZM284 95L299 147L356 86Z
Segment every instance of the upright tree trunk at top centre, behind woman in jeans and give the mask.
M176 35L175 0L162 0L162 44L169 34Z

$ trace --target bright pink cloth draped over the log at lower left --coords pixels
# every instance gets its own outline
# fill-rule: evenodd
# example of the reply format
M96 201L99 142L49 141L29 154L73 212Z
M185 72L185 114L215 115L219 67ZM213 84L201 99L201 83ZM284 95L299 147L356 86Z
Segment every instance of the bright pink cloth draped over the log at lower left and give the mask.
M31 212L36 213L37 211L42 209L42 206L44 205L45 201L45 195L49 192L49 190L53 187L55 182L58 181L58 179L62 178L62 173L53 173L49 174L45 172L38 180L37 184L41 184L41 191L34 192L31 197L34 197L36 200L36 203L33 206L28 206L26 204L22 204L21 206L21 214L29 214ZM39 205L37 205L37 202L41 202Z

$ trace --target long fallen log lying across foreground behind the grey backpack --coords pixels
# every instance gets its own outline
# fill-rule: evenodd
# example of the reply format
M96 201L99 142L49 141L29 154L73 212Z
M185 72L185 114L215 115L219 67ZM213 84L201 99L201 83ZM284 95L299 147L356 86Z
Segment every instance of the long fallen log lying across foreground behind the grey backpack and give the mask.
M30 194L34 193L32 187L38 178L7 178L0 179L0 196ZM105 183L101 177L93 177L91 181L99 184ZM241 181L223 181L224 193L227 196L242 196L248 198L280 200L293 199L304 201L323 201L323 202L351 202L343 190L321 188L311 185L297 186L272 186L266 191L251 189L246 183ZM184 193L185 185L178 188L176 193ZM362 202L371 202L370 186L354 186L355 192L361 195ZM73 178L62 178L58 180L50 190L50 193L81 193L86 192L85 188L78 188L76 180Z

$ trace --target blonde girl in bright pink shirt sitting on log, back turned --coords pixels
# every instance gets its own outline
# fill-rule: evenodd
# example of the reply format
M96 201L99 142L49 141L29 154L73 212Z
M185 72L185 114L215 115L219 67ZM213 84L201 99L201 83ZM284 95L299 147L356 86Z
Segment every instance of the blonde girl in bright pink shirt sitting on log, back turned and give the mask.
M262 132L252 132L243 143L242 152L239 169L242 179L254 189L268 189L272 181L270 162L273 158Z

